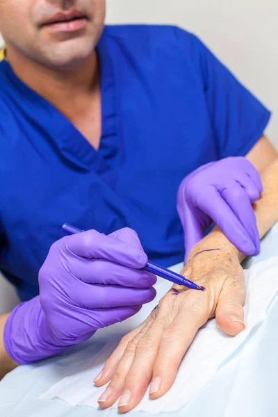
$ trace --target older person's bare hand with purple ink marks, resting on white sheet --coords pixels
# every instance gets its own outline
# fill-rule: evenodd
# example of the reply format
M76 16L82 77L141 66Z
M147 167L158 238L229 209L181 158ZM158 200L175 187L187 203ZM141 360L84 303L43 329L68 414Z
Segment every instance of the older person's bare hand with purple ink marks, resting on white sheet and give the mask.
M188 259L182 275L206 291L174 286L147 320L122 338L95 379L97 386L111 380L99 398L101 407L110 407L120 398L120 411L133 409L149 382L150 398L165 394L197 330L208 319L215 316L223 332L231 336L245 328L244 274L234 246L225 239L220 249L208 235L193 247Z

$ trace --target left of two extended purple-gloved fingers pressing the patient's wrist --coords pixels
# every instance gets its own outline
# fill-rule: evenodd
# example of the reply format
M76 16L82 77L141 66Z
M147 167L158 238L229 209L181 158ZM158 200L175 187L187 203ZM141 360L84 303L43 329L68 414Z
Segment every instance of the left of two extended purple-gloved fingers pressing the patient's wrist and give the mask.
M212 188L209 199L199 202L199 209L218 225L224 235L240 252L248 255L254 254L255 246L251 237L216 188Z

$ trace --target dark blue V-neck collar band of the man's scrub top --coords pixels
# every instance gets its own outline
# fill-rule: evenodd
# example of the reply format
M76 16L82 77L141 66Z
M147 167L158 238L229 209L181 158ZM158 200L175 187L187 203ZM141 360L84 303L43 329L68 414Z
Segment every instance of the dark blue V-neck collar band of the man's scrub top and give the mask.
M10 81L15 83L17 90L24 95L28 113L31 111L33 114L38 114L40 119L44 118L44 126L60 154L83 170L94 170L97 174L104 174L111 167L112 161L114 162L119 148L115 73L105 29L97 44L97 56L101 90L101 140L97 150L67 117L23 83L13 72L8 61L3 61L2 65L6 65Z

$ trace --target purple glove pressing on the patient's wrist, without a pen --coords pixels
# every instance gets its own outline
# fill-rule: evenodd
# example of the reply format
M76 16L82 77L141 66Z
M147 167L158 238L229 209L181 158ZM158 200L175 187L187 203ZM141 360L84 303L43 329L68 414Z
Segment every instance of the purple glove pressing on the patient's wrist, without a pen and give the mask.
M259 254L260 238L252 204L262 191L259 172L243 157L208 163L183 179L177 211L184 231L185 260L212 222L240 252Z

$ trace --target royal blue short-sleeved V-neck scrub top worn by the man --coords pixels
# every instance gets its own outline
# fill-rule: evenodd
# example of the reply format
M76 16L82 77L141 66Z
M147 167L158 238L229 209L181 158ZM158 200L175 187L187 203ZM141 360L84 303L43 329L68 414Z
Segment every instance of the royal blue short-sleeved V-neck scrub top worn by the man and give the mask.
M131 227L149 259L183 260L177 188L195 168L243 156L270 118L200 40L172 26L106 26L97 45L96 151L0 63L0 269L22 300L64 222Z

